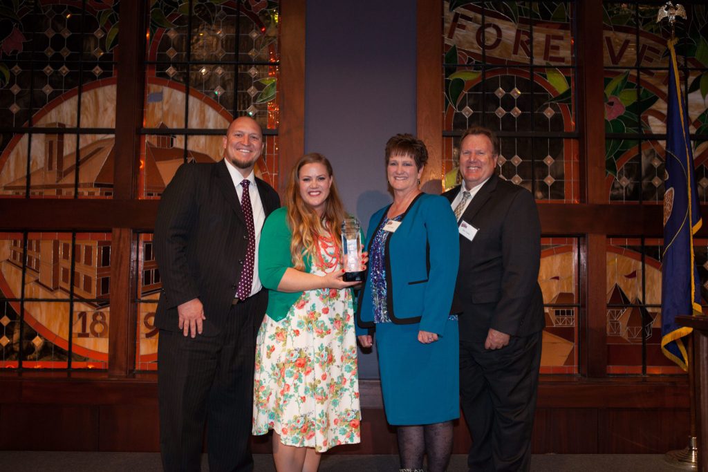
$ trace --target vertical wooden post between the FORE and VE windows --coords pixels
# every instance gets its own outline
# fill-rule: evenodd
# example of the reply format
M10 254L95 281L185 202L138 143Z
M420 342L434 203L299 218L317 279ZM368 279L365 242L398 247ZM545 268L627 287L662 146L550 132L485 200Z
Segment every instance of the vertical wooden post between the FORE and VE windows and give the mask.
M601 0L581 1L576 4L578 21L578 120L581 130L581 188L586 202L591 205L607 203L605 194L605 108L603 91L603 3ZM605 221L607 229L615 221ZM558 221L564 221L559 219ZM585 282L582 304L585 320L581 326L580 372L590 377L607 375L607 335L605 278L605 232L583 231L586 243L583 250ZM583 277L584 276L584 277Z

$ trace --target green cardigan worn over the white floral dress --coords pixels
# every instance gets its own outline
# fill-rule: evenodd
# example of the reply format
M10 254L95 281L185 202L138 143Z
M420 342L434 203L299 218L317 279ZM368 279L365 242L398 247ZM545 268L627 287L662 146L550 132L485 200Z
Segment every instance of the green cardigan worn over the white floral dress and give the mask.
M265 313L280 321L285 318L290 307L295 304L302 292L279 292L278 285L285 270L292 267L290 257L290 239L292 231L287 227L287 207L280 207L268 215L261 231L258 245L258 277L263 287L268 289L268 308ZM309 258L304 260L304 272L309 272Z

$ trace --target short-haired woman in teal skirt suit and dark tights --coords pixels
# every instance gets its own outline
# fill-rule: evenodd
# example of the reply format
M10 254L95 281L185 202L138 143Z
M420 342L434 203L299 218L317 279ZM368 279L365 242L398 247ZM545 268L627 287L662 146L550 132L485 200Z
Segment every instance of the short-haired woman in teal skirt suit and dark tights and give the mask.
M369 270L357 312L363 347L379 352L384 410L397 425L401 471L445 471L459 418L457 317L450 314L459 258L450 202L418 189L426 145L396 134L386 145L394 202L369 222Z

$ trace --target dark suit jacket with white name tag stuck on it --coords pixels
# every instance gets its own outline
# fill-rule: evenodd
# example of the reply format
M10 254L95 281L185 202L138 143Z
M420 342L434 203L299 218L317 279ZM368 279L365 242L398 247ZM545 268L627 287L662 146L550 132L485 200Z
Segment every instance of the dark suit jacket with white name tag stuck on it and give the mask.
M443 195L452 203L459 189ZM455 302L462 309L460 339L472 339L472 332L486 337L489 328L515 336L542 330L541 224L531 193L492 175L463 220L478 231L472 241L459 236Z

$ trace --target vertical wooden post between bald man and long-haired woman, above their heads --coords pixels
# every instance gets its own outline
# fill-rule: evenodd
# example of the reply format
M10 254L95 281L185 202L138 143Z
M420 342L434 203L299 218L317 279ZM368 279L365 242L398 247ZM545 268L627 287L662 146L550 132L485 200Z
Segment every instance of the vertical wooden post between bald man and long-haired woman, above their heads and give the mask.
M280 2L280 125L278 127L278 190L284 195L287 173L304 154L305 4Z

